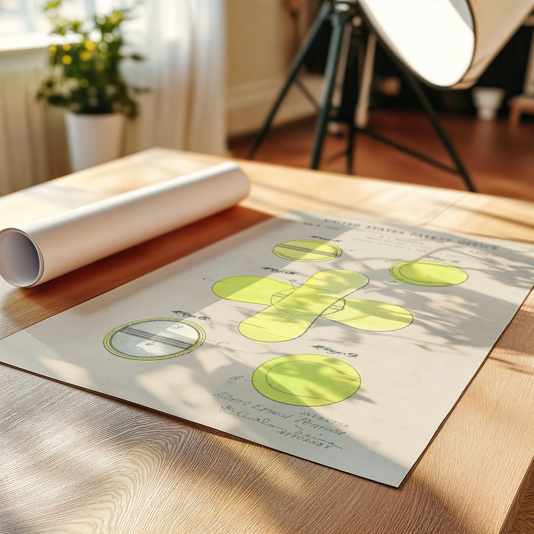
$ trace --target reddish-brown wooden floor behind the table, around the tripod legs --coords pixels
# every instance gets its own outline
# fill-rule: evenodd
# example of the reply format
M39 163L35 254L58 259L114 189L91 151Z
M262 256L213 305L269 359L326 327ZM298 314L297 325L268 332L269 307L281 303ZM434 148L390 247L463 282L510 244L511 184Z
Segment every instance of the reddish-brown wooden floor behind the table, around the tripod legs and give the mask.
M534 201L534 121L513 128L504 118L480 121L467 115L440 115L443 126L464 162L478 192ZM450 164L447 153L425 114L419 111L373 111L370 126L396 142ZM273 128L255 160L309 168L315 119ZM232 139L231 153L247 158L252 136ZM327 135L320 169L347 172L345 135ZM352 174L464 189L461 177L430 166L366 135L358 135Z

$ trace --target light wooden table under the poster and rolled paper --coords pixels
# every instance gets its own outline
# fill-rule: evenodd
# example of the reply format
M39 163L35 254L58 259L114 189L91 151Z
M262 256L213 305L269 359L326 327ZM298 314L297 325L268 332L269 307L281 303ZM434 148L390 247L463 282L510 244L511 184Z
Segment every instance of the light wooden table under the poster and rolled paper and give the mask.
M219 161L140 152L0 198L0 225ZM0 337L290 208L534 242L528 202L240 164L238 207L42 286L0 282ZM399 489L0 365L0 532L532 532L533 316L531 294Z

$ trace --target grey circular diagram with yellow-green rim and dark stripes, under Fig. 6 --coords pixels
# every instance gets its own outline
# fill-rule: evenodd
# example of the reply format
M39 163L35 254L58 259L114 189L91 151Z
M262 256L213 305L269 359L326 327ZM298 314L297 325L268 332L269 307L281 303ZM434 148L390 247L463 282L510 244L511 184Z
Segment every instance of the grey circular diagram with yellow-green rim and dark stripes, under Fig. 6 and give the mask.
M104 339L104 347L130 360L175 358L200 347L206 332L183 319L154 317L117 326Z

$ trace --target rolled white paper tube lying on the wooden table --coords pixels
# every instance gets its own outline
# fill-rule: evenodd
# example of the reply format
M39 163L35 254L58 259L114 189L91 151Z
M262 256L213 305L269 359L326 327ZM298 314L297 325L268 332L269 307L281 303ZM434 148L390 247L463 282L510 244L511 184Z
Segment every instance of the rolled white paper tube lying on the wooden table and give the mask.
M225 162L0 231L0 276L32 287L237 204L245 173Z

